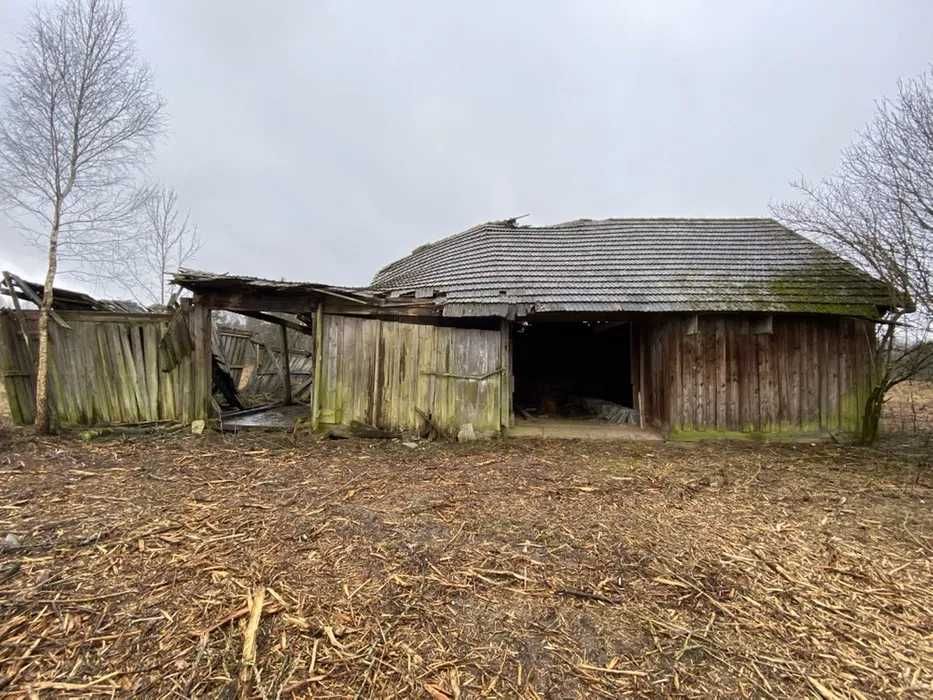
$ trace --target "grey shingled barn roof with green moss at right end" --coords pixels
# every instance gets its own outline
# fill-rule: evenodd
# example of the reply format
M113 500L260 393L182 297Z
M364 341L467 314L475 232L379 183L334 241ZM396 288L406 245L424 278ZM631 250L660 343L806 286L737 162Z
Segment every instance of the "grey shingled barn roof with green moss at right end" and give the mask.
M415 249L380 270L372 288L390 298L434 298L452 316L876 316L891 305L881 282L773 219L493 221Z

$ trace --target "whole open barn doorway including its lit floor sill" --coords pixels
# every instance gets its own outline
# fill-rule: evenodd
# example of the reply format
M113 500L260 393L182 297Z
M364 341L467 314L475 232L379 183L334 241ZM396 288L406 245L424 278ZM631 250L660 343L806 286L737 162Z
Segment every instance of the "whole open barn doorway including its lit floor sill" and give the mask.
M545 422L564 432L638 428L632 340L628 321L528 321L518 326L512 341L518 432Z

